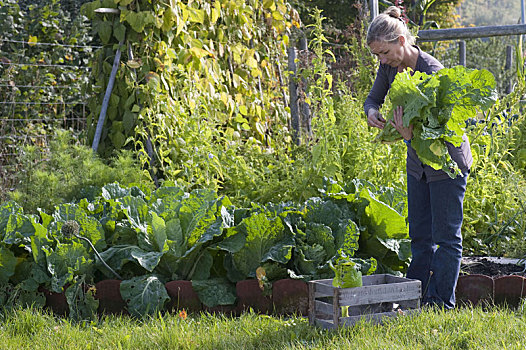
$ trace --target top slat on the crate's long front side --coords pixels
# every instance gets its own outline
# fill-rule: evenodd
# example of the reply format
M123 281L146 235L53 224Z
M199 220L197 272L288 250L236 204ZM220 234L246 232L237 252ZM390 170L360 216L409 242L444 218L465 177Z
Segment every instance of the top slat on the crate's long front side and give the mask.
M363 305L420 298L420 281L372 285L339 290L339 304Z

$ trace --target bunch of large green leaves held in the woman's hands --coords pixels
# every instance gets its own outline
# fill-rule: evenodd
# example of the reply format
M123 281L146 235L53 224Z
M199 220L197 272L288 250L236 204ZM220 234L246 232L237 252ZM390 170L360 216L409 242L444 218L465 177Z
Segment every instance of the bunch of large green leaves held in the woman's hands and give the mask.
M387 119L393 119L396 106L403 106L403 123L406 127L413 125L411 147L420 160L454 178L461 173L446 142L460 146L466 120L497 100L495 86L495 77L484 69L456 66L432 75L404 71L396 75L389 90L391 109ZM384 143L400 139L390 123L376 137L376 141Z

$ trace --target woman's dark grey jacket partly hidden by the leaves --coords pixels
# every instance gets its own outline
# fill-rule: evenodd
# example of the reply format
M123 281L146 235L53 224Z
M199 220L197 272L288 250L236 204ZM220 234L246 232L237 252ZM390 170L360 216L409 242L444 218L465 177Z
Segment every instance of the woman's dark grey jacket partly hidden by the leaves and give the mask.
M436 58L423 52L418 46L415 47L420 52L415 70L431 74L444 68ZM391 67L387 64L380 64L373 87L364 103L365 115L368 115L369 109L371 108L380 110L380 106L384 103L385 96L387 95L397 73L398 68ZM473 157L471 155L471 148L469 147L467 136L464 135L462 140L463 142L459 147L455 147L449 142L446 142L446 146L451 155L451 159L458 164L462 173L465 174L473 164ZM422 164L420 159L418 159L415 150L409 145L407 147L407 173L413 175L417 179L421 179L425 174L427 182L449 178L449 175L444 171L435 170L429 165Z

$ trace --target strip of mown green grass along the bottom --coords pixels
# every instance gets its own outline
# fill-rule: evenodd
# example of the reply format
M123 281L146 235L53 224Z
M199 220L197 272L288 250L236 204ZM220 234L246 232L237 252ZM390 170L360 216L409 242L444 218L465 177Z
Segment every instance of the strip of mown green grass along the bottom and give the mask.
M24 309L0 321L2 349L524 349L526 307L424 310L383 325L361 322L327 331L305 318L246 313L182 319L104 317L72 323Z

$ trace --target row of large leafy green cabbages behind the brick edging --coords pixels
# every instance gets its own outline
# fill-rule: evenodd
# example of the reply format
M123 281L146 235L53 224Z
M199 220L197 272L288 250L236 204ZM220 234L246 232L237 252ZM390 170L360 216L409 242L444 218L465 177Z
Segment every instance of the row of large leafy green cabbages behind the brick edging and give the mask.
M170 280L191 280L213 307L233 304L235 283L247 278L269 288L280 278L332 278L334 265L363 274L403 271L410 258L405 208L404 193L360 180L346 188L328 184L320 197L297 206L235 208L213 191L164 186L149 193L116 183L51 215L26 215L6 202L0 206L0 306L43 305L39 288L69 286L70 309L72 303L89 309L93 291L81 284L118 274L128 311L142 316L163 308ZM72 222L78 233L72 234Z

